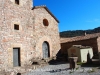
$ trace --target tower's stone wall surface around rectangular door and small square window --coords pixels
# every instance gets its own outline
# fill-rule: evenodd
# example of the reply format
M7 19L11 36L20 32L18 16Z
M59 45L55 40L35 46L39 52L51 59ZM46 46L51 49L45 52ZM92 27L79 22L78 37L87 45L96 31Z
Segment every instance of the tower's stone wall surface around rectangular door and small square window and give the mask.
M14 0L3 0L2 17L0 29L0 50L2 67L13 67L13 48L20 47L21 65L24 66L29 58L34 46L31 41L33 36L33 25L30 24L31 13L28 0L23 5L17 5ZM1 3L2 4L2 3ZM14 24L19 25L19 30L14 29Z

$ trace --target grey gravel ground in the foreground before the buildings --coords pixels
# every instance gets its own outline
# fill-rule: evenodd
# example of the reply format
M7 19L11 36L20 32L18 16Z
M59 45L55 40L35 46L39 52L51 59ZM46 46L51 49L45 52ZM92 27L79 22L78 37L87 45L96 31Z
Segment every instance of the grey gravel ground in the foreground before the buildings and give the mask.
M24 75L100 75L98 67L79 67L74 71L68 68L69 64L47 65Z

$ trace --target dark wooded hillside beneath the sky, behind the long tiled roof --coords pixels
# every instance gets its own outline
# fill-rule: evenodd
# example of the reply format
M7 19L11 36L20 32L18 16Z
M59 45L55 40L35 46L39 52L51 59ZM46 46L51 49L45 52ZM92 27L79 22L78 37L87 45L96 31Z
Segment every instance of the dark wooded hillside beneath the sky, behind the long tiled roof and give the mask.
M63 31L60 32L60 37L75 37L75 36L82 36L86 34L93 34L99 33L100 27L89 29L89 30L72 30L72 31Z

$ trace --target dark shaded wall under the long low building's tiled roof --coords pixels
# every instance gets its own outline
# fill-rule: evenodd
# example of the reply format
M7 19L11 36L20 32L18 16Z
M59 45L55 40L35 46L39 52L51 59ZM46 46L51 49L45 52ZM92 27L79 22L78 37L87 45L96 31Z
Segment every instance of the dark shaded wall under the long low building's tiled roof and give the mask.
M67 50L72 45L91 46L93 48L93 53L94 54L98 53L97 38L91 38L91 39L86 39L86 40L61 43L61 51L62 51L62 53L63 54L67 54Z

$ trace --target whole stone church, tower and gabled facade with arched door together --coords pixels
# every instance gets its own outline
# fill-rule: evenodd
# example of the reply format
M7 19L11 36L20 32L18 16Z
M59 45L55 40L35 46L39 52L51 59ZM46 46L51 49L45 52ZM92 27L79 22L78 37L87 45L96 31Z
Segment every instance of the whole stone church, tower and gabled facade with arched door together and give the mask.
M0 0L0 68L24 66L60 50L57 18L32 0Z

